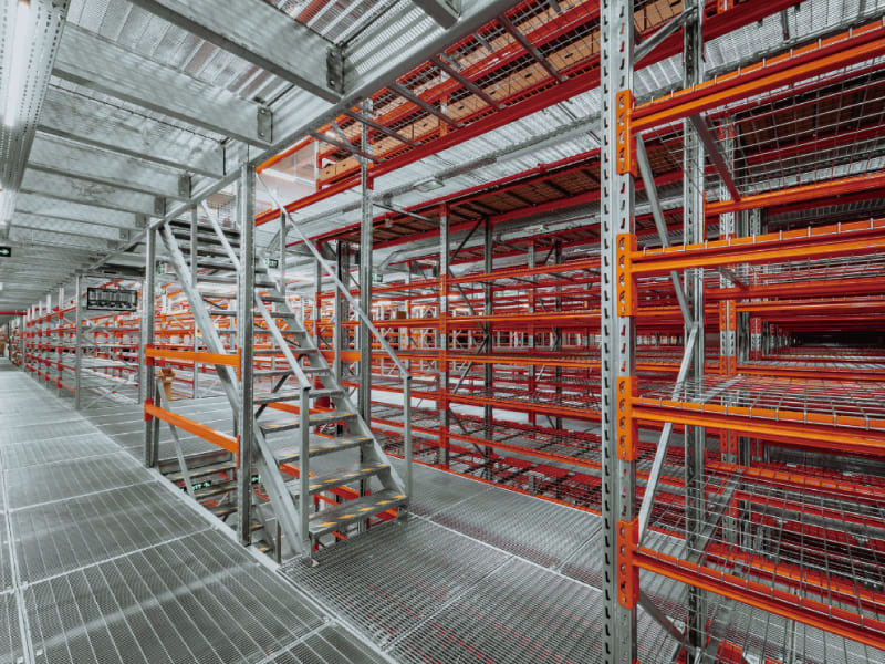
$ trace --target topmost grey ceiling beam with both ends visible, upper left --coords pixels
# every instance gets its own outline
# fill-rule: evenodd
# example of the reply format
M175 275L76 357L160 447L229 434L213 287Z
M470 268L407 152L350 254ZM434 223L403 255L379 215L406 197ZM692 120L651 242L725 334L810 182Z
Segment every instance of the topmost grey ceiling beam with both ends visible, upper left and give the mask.
M64 29L53 74L252 145L272 139L268 108L73 24Z

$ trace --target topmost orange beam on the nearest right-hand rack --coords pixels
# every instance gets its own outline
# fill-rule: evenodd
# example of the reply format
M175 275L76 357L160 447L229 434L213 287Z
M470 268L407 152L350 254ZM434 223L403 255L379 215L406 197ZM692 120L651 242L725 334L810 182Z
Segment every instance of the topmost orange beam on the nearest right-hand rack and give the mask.
M885 25L879 20L641 104L633 110L631 126L641 132L671 123L882 53L885 53Z

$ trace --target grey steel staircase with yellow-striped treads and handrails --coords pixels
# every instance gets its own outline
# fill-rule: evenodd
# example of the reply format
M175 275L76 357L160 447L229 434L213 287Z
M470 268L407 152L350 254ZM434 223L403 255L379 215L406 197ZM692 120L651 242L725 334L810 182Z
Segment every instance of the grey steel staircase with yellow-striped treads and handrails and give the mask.
M190 225L170 221L162 241L208 351L230 353L237 343L233 304L246 269L238 259L240 234L222 228L211 212L209 224L197 229L191 245ZM197 261L196 282L186 255ZM252 471L267 495L251 494L256 537L260 533L279 557L310 559L315 548L354 536L372 518L398 516L407 505L406 488L263 261L249 269L254 361L241 380L232 367L217 366L217 372L235 413L247 396L253 405L246 425L254 439ZM227 342L226 334L231 335ZM314 465L322 468L314 471ZM222 479L218 490L232 484ZM191 492L197 499L216 494L214 486L198 491ZM212 511L229 517L235 509L228 502Z

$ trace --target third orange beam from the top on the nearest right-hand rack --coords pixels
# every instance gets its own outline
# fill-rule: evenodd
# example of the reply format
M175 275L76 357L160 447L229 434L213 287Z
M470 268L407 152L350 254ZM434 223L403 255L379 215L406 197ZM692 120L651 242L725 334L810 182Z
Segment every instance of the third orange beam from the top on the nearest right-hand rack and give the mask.
M650 402L650 403L649 403ZM830 452L885 455L885 422L853 415L824 415L769 408L743 408L642 397L633 401L633 416L644 422L673 422L732 429L788 445ZM877 426L877 429L867 428Z

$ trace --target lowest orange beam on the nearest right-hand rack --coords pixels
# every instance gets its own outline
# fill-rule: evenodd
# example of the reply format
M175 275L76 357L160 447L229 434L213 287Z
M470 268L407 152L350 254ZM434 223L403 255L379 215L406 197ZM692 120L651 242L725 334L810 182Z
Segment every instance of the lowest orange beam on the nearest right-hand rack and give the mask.
M788 620L795 620L871 647L885 650L885 622L645 547L638 547L633 553L633 563L639 569L737 600Z

